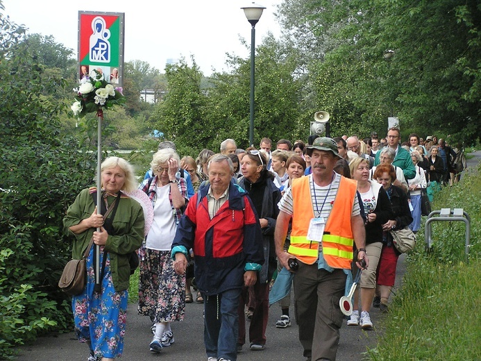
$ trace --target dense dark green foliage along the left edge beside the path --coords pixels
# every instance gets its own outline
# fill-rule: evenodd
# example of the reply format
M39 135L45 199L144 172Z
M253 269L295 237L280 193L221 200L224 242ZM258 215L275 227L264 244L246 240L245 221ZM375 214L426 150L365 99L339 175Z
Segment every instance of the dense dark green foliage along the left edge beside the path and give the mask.
M0 358L41 329L69 323L57 287L69 257L62 217L90 184L95 157L60 133L60 81L44 76L23 36L0 12Z

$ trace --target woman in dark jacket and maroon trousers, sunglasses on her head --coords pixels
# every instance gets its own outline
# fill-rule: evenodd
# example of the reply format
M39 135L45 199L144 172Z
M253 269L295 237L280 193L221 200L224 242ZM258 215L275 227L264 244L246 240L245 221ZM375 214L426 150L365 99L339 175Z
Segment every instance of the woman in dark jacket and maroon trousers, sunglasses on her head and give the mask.
M239 185L251 197L259 216L263 236L264 264L257 282L253 285L255 307L249 326L250 348L253 351L261 351L266 343L265 333L269 317L269 281L277 266L274 230L279 214L277 204L280 201L280 191L274 185L274 175L266 169L266 158L260 151L248 151L242 157L241 170L243 176L239 179ZM247 301L247 294L248 289L244 288L239 302L239 348L242 348L246 337L244 307Z

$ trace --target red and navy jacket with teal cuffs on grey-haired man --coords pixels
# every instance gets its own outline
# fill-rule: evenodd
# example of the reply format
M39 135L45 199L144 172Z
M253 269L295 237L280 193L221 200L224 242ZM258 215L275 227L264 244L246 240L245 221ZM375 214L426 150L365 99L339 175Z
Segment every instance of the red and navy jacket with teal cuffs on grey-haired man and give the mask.
M190 199L172 243L173 258L194 250L196 285L208 296L242 287L244 271L264 263L262 230L247 193L231 181L228 201L210 219L209 187L201 185Z

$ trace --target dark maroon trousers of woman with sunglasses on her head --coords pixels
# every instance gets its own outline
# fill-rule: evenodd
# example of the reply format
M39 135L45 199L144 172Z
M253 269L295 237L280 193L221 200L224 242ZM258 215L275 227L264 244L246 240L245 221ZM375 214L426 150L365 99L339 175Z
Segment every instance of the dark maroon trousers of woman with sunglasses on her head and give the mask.
M252 314L251 324L249 325L249 342L251 344L266 344L266 328L269 319L269 283L260 283L258 281L253 285L253 294L255 297L255 308ZM246 321L244 306L248 302L248 288L243 287L239 301L239 338L237 343L244 344L246 342Z

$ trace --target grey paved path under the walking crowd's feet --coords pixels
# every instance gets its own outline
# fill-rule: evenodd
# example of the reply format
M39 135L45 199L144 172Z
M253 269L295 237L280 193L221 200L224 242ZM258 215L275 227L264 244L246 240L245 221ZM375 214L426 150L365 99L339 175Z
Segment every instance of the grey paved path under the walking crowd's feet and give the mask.
M402 282L405 272L404 256L398 262L398 286ZM202 305L190 303L186 305L185 319L172 325L176 342L170 347L165 347L162 353L155 355L149 351L151 330L148 317L140 317L136 310L137 304L130 304L128 308L127 329L124 346L123 360L207 360L203 346L203 317ZM291 308L294 310L294 308ZM273 305L269 312L267 326L267 345L264 351L250 351L244 346L244 351L239 353L239 361L255 360L305 360L303 350L298 342L298 327L293 322L292 327L276 328L276 320L280 317L280 308ZM371 311L374 326L380 324L383 317L377 308ZM380 333L380 327L373 330L362 331L357 326L341 328L341 341L337 353L338 361L362 360L366 346L375 347ZM20 348L19 361L47 361L47 360L87 360L88 349L85 344L80 344L74 333L49 335L40 337L33 344Z

